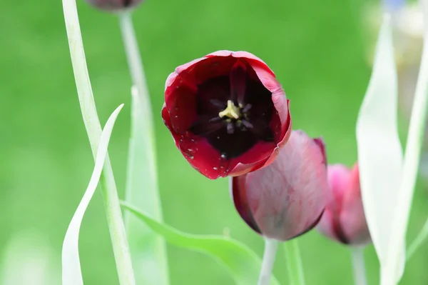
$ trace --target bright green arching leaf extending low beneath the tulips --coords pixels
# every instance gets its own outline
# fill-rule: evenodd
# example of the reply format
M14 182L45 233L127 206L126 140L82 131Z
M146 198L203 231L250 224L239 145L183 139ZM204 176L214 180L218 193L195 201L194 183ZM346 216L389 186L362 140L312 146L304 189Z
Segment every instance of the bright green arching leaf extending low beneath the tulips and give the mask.
M121 204L170 244L199 251L216 259L228 269L236 284L257 284L262 261L248 246L224 236L187 234L152 219L131 204ZM279 285L274 276L270 284Z

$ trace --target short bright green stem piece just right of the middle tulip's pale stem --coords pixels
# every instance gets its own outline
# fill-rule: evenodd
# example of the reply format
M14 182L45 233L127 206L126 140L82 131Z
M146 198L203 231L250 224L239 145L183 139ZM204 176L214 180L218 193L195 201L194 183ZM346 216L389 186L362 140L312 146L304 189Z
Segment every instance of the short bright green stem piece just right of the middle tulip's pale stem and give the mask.
M305 285L305 275L303 274L302 259L300 259L297 239L286 241L284 249L289 283L292 285Z

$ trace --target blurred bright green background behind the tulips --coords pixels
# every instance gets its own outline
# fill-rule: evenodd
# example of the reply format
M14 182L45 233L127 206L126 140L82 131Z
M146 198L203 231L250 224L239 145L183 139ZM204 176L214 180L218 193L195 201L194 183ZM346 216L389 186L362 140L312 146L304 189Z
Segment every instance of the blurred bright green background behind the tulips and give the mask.
M260 256L263 253L260 236L235 212L227 179L210 181L194 171L163 125L164 82L175 66L218 49L259 56L275 71L291 100L294 129L324 136L329 162L350 166L357 158L357 111L370 78L360 23L364 4L357 0L148 0L135 11L156 115L158 172L168 224L195 234L223 234L229 229L230 236ZM59 272L63 236L93 169L61 1L1 1L0 8L0 252L15 234L31 230L49 244L52 270ZM131 80L118 21L81 0L78 9L102 124L125 103L109 148L123 197ZM419 183L409 240L428 216L424 190ZM37 246L36 239L28 240L28 246L33 241ZM352 284L345 246L315 231L299 240L307 284ZM80 254L85 284L118 284L99 192L83 219ZM207 256L173 246L168 246L168 255L172 284L233 284ZM401 284L428 284L427 256L428 246L423 246L409 261ZM370 284L376 284L379 265L372 246L366 258ZM287 284L282 250L275 276Z

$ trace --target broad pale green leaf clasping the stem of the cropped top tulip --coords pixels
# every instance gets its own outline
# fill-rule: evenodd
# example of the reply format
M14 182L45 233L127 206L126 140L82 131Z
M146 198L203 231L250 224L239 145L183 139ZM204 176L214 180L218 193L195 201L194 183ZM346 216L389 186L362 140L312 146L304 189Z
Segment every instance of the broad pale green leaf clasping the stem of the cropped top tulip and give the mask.
M131 137L129 139L128 173L125 199L162 221L158 194L153 131L147 131L145 114L137 89L132 89ZM166 285L169 283L165 241L141 224L136 216L123 214L129 249L138 284Z

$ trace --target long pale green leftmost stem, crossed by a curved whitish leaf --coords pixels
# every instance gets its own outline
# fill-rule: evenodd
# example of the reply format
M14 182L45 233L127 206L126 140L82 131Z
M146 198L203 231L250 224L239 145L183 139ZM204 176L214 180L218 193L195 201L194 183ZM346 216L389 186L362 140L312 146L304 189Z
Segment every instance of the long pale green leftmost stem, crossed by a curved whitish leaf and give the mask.
M86 66L81 29L78 23L76 0L63 0L63 11L83 121L88 133L93 156L96 156L101 137L101 124L96 112L91 81L88 75L88 67ZM111 244L113 245L113 253L116 259L119 283L121 285L135 285L136 282L131 264L131 255L129 254L128 241L126 239L125 226L122 219L121 206L119 204L116 182L114 181L113 170L111 169L108 155L106 156L100 181L108 229L110 230Z

